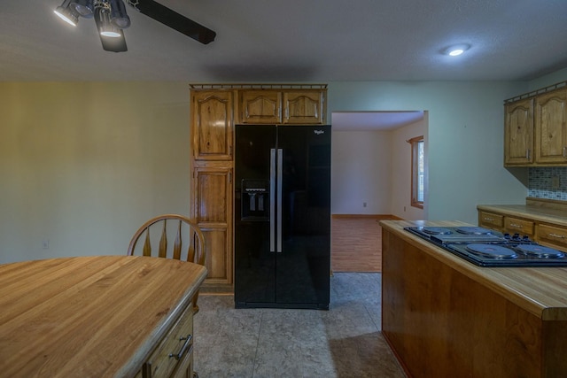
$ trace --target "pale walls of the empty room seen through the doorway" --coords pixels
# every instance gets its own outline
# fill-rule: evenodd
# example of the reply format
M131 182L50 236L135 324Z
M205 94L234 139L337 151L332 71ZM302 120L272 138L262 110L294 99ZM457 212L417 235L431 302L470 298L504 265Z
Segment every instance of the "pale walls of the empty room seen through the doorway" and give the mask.
M407 141L418 135L425 136L427 148L426 118L390 131L333 131L332 213L427 219L423 209L411 206L410 198L411 148Z

